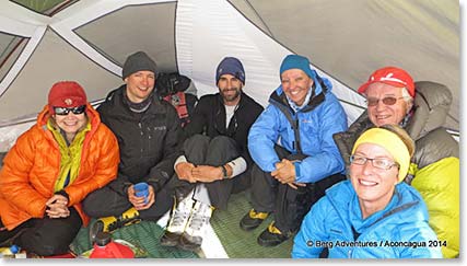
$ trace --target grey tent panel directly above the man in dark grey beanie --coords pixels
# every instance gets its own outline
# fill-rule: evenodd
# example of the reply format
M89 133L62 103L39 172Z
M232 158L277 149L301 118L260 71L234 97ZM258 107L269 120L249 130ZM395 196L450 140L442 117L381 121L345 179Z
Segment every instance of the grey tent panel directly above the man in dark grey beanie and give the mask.
M126 7L75 32L119 66L128 55L144 50L160 70L176 71L175 8L176 2Z

